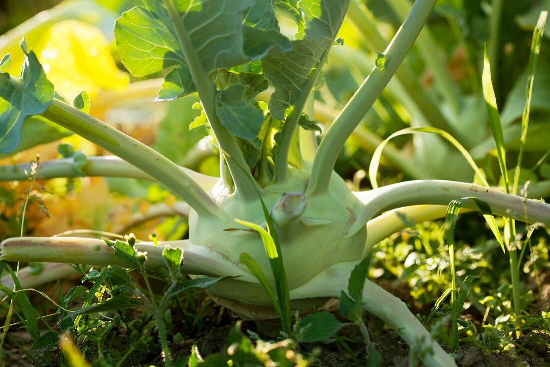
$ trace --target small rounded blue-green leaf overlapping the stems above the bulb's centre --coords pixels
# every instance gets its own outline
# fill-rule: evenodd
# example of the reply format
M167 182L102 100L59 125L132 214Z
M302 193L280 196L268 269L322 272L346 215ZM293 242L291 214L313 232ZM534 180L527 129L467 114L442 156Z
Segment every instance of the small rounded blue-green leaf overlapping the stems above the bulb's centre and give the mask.
M221 123L239 138L251 140L260 134L263 111L244 101L248 88L234 84L216 95L216 112Z

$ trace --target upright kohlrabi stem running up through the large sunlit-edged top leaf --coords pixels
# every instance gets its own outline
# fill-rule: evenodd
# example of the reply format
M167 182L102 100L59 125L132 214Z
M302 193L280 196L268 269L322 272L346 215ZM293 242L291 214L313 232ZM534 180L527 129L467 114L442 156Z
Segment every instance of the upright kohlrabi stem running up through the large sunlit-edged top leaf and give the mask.
M237 188L237 195L245 201L255 201L257 200L255 180L249 169L243 169L248 167L243 152L241 152L237 144L237 139L228 132L217 116L215 105L216 84L202 67L199 54L191 42L191 37L185 29L173 0L163 1L174 24L185 61L188 64L197 93L201 98L202 107L204 108L208 122L210 122L212 131L216 135L222 154L226 156L229 171Z

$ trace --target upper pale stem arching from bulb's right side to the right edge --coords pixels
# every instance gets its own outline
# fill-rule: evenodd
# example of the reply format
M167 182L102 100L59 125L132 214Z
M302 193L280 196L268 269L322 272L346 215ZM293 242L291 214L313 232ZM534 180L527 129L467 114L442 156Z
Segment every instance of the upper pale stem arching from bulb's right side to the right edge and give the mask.
M366 205L366 208L362 213L356 214L357 221L352 226L353 229L362 228L379 213L392 209L412 205L449 205L452 200L470 197L485 201L494 215L550 226L550 205L474 184L418 180L361 191L354 195ZM466 202L464 207L479 210L473 202ZM353 232L350 229L349 233Z

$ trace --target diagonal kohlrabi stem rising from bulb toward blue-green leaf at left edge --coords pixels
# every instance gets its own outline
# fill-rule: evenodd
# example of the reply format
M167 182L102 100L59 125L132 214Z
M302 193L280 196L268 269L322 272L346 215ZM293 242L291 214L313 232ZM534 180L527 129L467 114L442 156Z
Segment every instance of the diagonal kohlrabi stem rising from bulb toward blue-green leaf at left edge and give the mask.
M226 218L221 207L210 198L199 183L149 146L57 99L42 116L154 177L185 200L199 215Z

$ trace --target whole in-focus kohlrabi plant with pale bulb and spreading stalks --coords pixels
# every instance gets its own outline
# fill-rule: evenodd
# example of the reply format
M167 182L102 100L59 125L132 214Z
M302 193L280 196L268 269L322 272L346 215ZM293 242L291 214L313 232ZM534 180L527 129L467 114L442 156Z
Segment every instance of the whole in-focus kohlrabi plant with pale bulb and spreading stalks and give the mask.
M215 136L221 178L182 169L91 117L85 93L73 105L62 101L25 41L21 78L0 74L0 152L17 149L25 124L40 116L114 156L85 160L75 154L45 162L36 178L145 178L179 196L191 207L189 240L136 244L147 253L147 269L164 266L163 247L183 249L185 273L235 277L209 289L217 303L251 319L272 318L277 315L273 297L262 284L277 289L278 303L287 309L309 310L344 297L352 270L372 246L406 227L403 215L416 222L433 220L445 215L442 206L473 197L461 205L481 207L496 233L492 215L550 224L550 206L488 185L420 180L352 192L334 173L346 140L398 70L436 0L415 2L318 147L319 128L311 113L304 112L311 109L305 108L312 102L312 91L323 83L329 51L345 47L337 35L349 0L131 3L135 7L115 28L124 66L138 77L166 73L157 101L199 95L202 113L193 124L207 125ZM282 18L294 24L290 38L281 32ZM8 55L0 70L9 63ZM268 103L257 98L266 91L271 92ZM27 171L25 165L1 167L0 179L25 179ZM481 174L480 179L484 182ZM270 238L273 244L265 245ZM2 243L2 260L122 265L106 242L77 238L9 239ZM270 267L273 271L267 271ZM350 294L356 304L386 321L426 365L454 365L401 300L368 280L358 289L361 294Z

